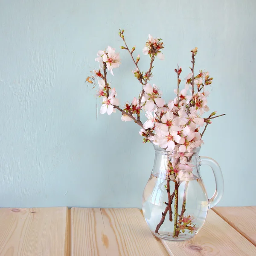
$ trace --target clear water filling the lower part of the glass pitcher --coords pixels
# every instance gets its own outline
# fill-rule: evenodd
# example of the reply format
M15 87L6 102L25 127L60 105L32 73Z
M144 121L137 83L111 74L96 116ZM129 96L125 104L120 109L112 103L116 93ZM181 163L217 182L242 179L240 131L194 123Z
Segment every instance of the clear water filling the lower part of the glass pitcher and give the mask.
M166 193L167 180L151 175L143 193L143 215L148 227L155 236L174 241L184 241L195 236L201 229L207 216L209 200L201 178L179 181L177 196L177 225L178 237L172 230L175 226L175 196L172 203L172 221L169 211L163 223L156 232L157 225L163 218L168 203ZM170 195L175 191L175 181L170 181ZM186 192L185 192L186 191ZM184 193L186 193L186 206L183 207ZM180 216L182 209L183 216ZM169 209L169 208L168 208ZM183 210L184 210L183 209ZM170 232L171 231L171 232Z

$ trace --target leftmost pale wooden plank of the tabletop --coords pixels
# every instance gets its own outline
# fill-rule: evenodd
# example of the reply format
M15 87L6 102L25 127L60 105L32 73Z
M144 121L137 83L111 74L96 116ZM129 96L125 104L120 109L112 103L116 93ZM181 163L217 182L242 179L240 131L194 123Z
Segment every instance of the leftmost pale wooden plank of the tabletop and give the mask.
M67 256L68 209L0 209L0 255Z

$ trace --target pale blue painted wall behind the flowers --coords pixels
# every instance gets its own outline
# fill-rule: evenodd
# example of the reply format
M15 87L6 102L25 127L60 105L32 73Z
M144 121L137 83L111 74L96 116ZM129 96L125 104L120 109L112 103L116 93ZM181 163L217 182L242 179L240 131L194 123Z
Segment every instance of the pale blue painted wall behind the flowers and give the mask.
M209 126L201 150L222 167L219 205L256 205L255 13L254 0L0 0L0 207L141 206L154 150L119 113L97 117L85 84L96 52L122 45L119 27L136 54L148 33L163 38L166 59L152 82L166 100L176 64L184 77L198 47L196 70L214 77L209 107L227 114ZM125 102L140 85L120 52L111 81ZM202 175L211 195L213 175L208 167Z

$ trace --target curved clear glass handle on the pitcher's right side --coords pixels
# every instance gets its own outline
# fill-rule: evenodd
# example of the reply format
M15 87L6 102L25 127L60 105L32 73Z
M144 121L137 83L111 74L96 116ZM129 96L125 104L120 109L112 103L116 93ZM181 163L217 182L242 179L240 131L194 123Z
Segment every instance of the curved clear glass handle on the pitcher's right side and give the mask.
M210 157L200 157L201 163L206 164L212 168L215 177L216 189L212 198L209 199L209 207L212 208L221 200L224 193L224 180L221 172L221 167L218 163Z

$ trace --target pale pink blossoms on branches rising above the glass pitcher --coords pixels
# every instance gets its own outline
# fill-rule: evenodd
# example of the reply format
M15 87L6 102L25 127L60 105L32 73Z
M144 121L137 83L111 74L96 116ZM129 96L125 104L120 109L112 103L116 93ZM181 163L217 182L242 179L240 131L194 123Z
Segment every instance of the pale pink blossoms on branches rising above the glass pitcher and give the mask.
M136 65L136 69L133 71L134 76L142 84L142 91L138 98L134 97L133 101L126 103L124 108L119 107L116 90L109 87L106 76L107 70L113 75L113 69L119 67L120 56L110 46L105 51L100 50L95 60L99 62L103 73L100 70L94 70L94 74L99 79L97 96L103 97L100 113L107 112L110 115L118 109L122 112L122 121L134 121L140 125L140 135L144 137L144 143L150 141L166 151L175 150L179 154L176 159L180 160L180 170L189 171L192 167L186 162L187 157L184 154L203 143L202 135L204 131L201 133L200 129L204 125L210 124L212 116L216 113L212 112L209 117L202 117L205 112L209 111L207 106L209 90L207 90L207 86L212 83L212 78L209 77L208 72L202 70L199 71L198 75L194 75L195 55L198 50L197 48L192 49L193 66L190 68L192 72L186 76L184 88L180 90L182 68L178 67L175 69L177 73L177 89L174 90L176 97L169 102L165 102L159 87L148 82L152 76L151 70L154 58L157 56L164 59L161 52L164 48L162 40L153 38L151 35L148 36L143 53L150 56L151 63L149 70L144 73L138 67L140 55L136 59L133 58L132 54L135 46L132 47L131 51L128 49L123 32L123 30L120 30L119 35L123 39L125 47L120 48L126 49L130 53ZM145 122L140 119L142 111L145 111ZM172 166L172 168L175 170L175 166Z

